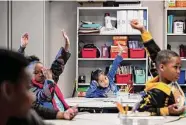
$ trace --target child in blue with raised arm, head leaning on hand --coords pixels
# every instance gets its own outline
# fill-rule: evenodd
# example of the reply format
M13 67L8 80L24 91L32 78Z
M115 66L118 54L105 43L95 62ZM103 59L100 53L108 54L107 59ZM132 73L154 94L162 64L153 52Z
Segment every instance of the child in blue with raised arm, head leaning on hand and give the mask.
M86 98L104 98L107 97L107 93L110 90L114 93L118 91L113 79L115 77L119 64L123 60L121 54L124 51L120 45L118 45L118 47L120 52L115 58L112 67L107 75L101 69L97 69L96 71L93 71L91 73L91 83L88 91L86 92Z

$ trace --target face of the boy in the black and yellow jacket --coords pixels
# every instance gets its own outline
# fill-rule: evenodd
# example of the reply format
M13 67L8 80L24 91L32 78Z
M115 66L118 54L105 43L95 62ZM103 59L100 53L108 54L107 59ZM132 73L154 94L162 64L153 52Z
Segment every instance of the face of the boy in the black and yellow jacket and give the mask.
M167 64L161 64L160 71L162 77L166 80L173 82L179 79L180 69L181 69L181 59L180 57L172 57Z

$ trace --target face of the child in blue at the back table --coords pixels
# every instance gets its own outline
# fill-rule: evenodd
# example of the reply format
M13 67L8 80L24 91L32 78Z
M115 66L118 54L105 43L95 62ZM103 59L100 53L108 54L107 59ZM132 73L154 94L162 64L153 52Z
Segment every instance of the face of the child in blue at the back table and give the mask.
M106 88L109 86L109 80L108 77L104 74L104 73L100 73L99 77L98 77L98 84L103 87Z

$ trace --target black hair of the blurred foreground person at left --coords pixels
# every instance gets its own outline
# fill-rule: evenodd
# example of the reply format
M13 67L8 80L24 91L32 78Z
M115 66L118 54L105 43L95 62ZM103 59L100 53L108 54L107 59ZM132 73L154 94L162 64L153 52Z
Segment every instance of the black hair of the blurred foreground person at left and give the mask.
M0 48L0 84L3 81L16 83L24 68L28 66L27 59L20 53Z

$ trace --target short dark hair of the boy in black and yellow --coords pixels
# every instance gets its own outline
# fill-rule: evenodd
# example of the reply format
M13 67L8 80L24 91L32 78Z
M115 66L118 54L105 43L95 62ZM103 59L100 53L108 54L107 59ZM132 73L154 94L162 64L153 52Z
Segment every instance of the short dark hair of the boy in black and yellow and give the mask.
M172 57L179 57L179 55L171 50L161 50L158 52L156 56L156 66L158 67L160 64L168 63Z

